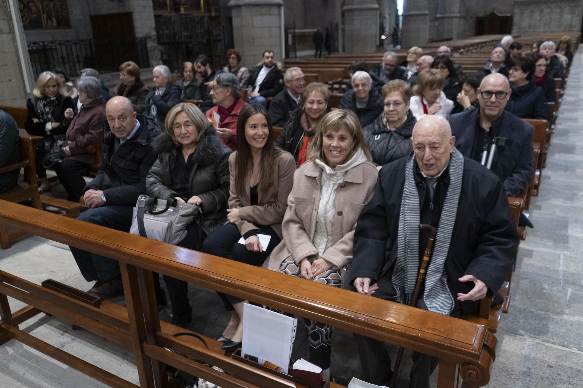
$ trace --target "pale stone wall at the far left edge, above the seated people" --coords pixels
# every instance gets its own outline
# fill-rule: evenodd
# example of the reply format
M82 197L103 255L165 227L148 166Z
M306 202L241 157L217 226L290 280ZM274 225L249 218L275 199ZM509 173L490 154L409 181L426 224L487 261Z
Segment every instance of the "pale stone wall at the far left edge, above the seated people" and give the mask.
M24 77L10 13L0 6L0 105L26 105Z

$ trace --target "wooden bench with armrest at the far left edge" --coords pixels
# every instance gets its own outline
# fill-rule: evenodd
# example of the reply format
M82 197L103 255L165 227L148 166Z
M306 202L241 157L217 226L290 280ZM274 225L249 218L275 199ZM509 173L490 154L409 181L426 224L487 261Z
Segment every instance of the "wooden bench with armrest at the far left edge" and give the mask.
M24 180L22 184L17 184L15 188L9 191L0 193L0 199L10 202L23 202L30 200L33 206L37 209L43 209L40 196L38 195L38 186L36 180L36 164L34 156L36 155L36 147L38 143L43 141L40 136L20 135L18 142L20 160L18 163L9 164L0 168L0 174L9 171L19 170L24 168ZM26 237L27 232L17 230L8 234L6 225L0 222L0 248L8 249L13 242Z

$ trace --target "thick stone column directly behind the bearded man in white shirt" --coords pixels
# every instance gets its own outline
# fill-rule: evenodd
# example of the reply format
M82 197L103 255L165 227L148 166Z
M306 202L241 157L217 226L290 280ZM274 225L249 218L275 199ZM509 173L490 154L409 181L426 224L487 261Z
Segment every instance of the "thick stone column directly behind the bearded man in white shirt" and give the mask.
M272 50L275 61L283 61L283 1L231 0L235 49L241 63L251 69L265 50Z

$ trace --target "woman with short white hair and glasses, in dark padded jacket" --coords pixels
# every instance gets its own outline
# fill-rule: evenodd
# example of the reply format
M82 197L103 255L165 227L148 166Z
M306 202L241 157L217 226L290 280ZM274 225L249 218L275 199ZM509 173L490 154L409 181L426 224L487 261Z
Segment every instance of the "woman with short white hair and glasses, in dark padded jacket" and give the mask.
M355 72L350 82L352 89L347 90L340 99L340 109L349 109L356 113L364 128L381 114L381 96L373 89L373 78L367 72Z

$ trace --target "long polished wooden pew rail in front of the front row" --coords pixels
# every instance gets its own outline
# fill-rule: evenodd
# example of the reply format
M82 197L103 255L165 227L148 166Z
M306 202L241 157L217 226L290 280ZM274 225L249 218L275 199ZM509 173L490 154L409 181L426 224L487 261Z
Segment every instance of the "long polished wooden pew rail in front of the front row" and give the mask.
M19 330L18 324L46 312L132 348L141 387L161 386L166 379L164 364L223 387L301 387L215 351L217 344L212 340L208 350L199 343L172 337L171 330L184 330L160 322L151 271L437 357L440 360L438 388L457 387L458 376L471 386L484 386L490 380L491 364L496 358L496 337L481 324L327 287L17 204L0 202L0 220L120 262L127 312L123 306L107 302L99 305L99 300L78 290L61 290L54 281L37 285L0 271L0 343L15 338L110 386L135 387L30 336ZM28 306L12 313L7 297ZM181 354L219 366L227 374L216 373Z

